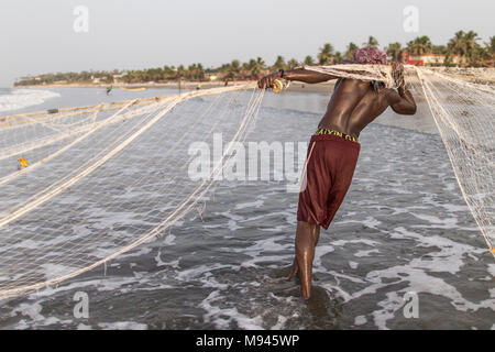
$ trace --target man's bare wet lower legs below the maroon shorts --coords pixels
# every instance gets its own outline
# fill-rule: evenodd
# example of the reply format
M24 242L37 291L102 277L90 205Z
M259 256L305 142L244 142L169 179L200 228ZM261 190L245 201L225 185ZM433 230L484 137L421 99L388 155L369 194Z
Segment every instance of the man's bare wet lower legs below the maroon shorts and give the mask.
M315 258L315 249L319 239L319 226L305 221L297 222L296 257L287 279L292 279L299 273L304 299L309 299L311 295L312 260Z

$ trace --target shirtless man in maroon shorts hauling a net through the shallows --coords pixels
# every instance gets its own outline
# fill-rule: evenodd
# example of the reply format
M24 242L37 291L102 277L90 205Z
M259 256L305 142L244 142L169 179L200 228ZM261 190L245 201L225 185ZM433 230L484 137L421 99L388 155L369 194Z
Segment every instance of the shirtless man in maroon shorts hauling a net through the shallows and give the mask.
M354 64L386 65L386 54L376 48L361 48ZM311 295L312 260L320 227L328 229L351 185L358 163L361 131L388 107L399 114L415 114L416 102L404 81L404 67L393 63L397 90L381 82L339 78L304 68L279 70L258 80L260 88L271 88L275 79L318 84L338 79L327 112L311 136L306 161L306 186L299 193L296 254L287 279L299 274L301 295Z

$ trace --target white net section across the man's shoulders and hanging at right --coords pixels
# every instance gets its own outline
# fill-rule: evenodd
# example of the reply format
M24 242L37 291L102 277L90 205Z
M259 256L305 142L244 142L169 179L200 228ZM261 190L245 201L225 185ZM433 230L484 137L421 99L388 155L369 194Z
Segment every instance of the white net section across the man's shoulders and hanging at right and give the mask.
M359 66L362 70L352 64L305 68L337 77L382 80L387 88L396 88L389 66ZM366 77L359 78L365 72ZM462 195L495 256L495 69L406 66L405 77L418 106L417 114L433 118Z

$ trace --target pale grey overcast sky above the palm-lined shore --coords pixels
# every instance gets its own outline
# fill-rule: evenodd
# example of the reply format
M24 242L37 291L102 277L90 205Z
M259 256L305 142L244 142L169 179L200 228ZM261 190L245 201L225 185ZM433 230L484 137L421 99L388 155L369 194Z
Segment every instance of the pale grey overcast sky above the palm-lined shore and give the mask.
M495 35L491 0L1 0L0 87L50 72L148 68L276 55L304 59L324 43L344 51L369 35L381 46L417 35L446 44L459 30ZM88 32L74 9L85 6ZM419 31L406 32L407 6Z

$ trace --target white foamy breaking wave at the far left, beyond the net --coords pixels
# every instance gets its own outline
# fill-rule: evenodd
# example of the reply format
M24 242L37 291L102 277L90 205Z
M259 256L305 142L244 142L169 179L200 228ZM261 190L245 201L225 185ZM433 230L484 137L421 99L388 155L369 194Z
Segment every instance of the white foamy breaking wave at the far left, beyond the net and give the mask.
M14 89L0 95L0 111L10 111L37 106L47 99L58 98L59 94L40 89Z

